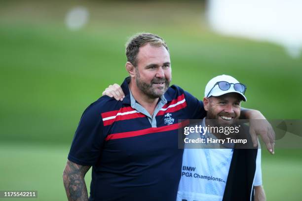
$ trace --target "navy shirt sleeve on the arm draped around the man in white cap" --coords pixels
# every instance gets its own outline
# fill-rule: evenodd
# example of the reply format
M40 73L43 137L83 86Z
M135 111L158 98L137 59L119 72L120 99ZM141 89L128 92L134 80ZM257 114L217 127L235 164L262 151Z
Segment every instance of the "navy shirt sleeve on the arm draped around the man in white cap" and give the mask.
M196 99L186 91L185 98L189 110L189 119L203 119L207 115L201 100Z

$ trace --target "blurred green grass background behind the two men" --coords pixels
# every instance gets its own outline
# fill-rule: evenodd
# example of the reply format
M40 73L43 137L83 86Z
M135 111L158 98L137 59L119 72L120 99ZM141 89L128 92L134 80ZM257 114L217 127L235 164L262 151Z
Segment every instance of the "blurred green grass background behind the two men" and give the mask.
M89 11L89 21L73 31L65 17L75 6ZM166 40L172 83L197 98L213 76L230 74L248 87L242 106L268 119L301 119L302 57L211 32L204 1L2 0L0 190L38 190L28 201L66 200L62 172L79 118L127 76L124 44L137 32ZM301 200L302 151L263 149L262 156L267 200Z

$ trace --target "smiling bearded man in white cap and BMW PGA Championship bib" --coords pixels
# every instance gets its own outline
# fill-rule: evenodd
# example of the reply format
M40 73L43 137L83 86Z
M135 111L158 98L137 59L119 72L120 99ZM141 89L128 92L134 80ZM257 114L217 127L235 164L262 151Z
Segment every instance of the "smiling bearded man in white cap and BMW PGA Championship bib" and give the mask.
M241 100L247 100L245 91L246 86L232 76L219 75L211 79L205 87L203 102L207 116L201 126L235 125ZM194 133L191 137L196 134L205 139L222 138L215 132ZM191 149L188 145L191 144L185 144L183 154L177 201L265 201L260 148L234 149L234 144L214 148L201 143Z

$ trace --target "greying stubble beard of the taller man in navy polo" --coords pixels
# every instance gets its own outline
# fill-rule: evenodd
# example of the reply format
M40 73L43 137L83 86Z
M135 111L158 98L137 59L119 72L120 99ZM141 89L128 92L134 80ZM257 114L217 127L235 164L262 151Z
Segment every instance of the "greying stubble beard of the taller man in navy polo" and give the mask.
M147 95L149 98L151 99L157 99L159 97L161 97L162 95L164 95L164 93L167 91L171 80L167 80L166 78L163 79L157 79L157 78L153 78L151 80L151 83L148 84L146 82L144 82L143 79L141 79L140 73L137 71L136 72L136 76L135 76L135 83L136 86L145 94ZM155 88L153 83L154 82L164 82L165 86L161 87L160 89Z

